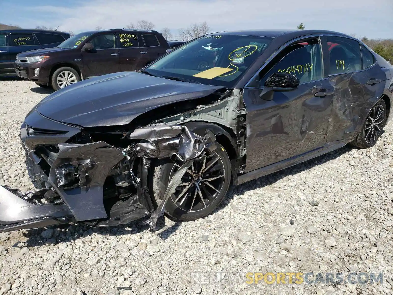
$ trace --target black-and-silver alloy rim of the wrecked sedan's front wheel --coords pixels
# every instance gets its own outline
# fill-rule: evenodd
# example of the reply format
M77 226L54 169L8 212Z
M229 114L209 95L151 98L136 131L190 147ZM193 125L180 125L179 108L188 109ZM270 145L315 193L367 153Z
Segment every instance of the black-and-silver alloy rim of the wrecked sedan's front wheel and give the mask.
M171 179L180 168L175 164L170 173ZM194 160L191 167L184 173L182 183L171 195L173 203L188 212L203 210L220 194L225 179L222 159L217 153L204 155Z

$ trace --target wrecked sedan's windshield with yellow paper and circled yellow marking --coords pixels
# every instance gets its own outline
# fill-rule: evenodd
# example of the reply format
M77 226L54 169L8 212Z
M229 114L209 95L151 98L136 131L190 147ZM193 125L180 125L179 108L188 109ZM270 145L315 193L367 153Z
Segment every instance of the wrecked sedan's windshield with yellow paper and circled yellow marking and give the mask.
M143 72L196 83L233 87L266 50L269 37L208 35L176 48Z

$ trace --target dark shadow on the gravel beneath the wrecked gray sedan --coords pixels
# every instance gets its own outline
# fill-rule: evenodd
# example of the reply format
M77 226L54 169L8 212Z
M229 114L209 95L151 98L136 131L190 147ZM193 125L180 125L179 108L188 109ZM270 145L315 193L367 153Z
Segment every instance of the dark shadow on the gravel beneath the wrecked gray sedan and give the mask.
M223 202L216 210L213 211L213 213L217 213L222 210L225 206L227 206L228 202L230 202L231 199L233 199L237 194L244 194L245 192L248 192L250 190L269 186L276 183L280 179L287 177L288 175L295 175L299 172L309 170L314 166L323 164L324 162L336 159L341 155L348 153L352 149L356 149L356 147L346 145L340 149L331 151L325 155L321 155L319 157L286 168L284 170L277 171L275 173L260 177L258 179L254 179L239 186L232 186L226 196L227 202ZM171 236L171 234L176 232L176 229L178 229L178 227L180 227L180 225L182 224L182 222L175 222L173 225L168 226L165 225L166 220L166 218L160 218L157 223L157 230L155 231L157 236L159 236L162 240L165 240L169 236ZM41 236L41 232L43 232L45 229L33 229L24 232L23 236L27 238L25 242L25 247L56 245L66 242L72 242L73 240L77 240L81 236L89 236L94 233L102 236L123 236L125 234L136 234L139 232L143 232L144 230L148 230L149 226L141 222L141 220L136 220L130 222L127 225L119 225L107 228L88 227L83 224L65 224L51 227L51 229L53 229L53 237L49 239L44 239Z

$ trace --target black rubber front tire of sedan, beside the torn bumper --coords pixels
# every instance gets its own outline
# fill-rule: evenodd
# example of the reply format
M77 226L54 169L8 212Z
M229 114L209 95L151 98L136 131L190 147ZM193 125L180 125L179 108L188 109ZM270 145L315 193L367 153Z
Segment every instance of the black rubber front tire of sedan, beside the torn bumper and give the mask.
M195 172L200 171L203 166L203 159L204 157L199 160L194 160L192 168L190 167L190 169L187 171L193 169L195 169ZM213 163L209 167L211 162ZM152 192L154 197L153 199L156 202L156 205L158 205L161 203L169 181L178 169L178 166L175 166L173 162L166 160L158 162L153 168L154 170L151 181ZM195 220L208 216L211 212L213 212L213 210L215 210L215 208L217 208L217 206L220 205L222 200L225 198L226 193L228 192L231 180L230 159L225 149L220 144L219 147L213 153L211 153L211 155L206 156L205 169L206 168L208 168L206 172L210 173L199 173L201 176L204 176L203 178L200 178L199 181L195 175L193 176L193 174L189 172L184 174L184 177L182 178L182 181L184 181L183 183L187 183L188 181L191 186L189 186L188 189L187 185L179 185L176 188L176 192L172 194L171 197L169 197L165 205L165 213L167 215L175 220ZM220 175L223 176L220 177ZM189 180L190 177L192 177L191 180ZM206 181L206 179L211 180ZM213 190L211 186L215 187L215 190L218 190L219 192ZM200 188L199 192L201 192L202 196L204 197L203 202L200 198L197 187ZM181 195L182 193L184 194ZM178 201L175 203L177 199ZM184 200L182 201L182 199Z

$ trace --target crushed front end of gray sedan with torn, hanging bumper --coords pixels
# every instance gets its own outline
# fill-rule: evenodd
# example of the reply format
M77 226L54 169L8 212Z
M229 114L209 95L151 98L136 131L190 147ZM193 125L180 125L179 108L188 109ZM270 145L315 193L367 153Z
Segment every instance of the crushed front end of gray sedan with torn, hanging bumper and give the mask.
M169 157L181 166L168 196L192 160L215 149L215 135L208 130L199 136L184 125L152 124L86 132L34 109L20 138L36 189L20 193L0 187L0 232L70 222L107 227L140 218L155 229L165 201L154 210L148 184L151 161Z

